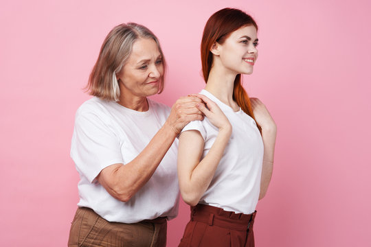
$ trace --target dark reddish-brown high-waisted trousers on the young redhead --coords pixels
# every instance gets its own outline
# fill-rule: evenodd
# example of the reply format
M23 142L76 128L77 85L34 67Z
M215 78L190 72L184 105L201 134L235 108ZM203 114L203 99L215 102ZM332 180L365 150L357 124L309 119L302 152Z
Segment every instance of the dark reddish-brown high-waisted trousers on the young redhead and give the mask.
M254 247L254 219L250 215L224 211L197 204L191 207L191 219L179 247Z

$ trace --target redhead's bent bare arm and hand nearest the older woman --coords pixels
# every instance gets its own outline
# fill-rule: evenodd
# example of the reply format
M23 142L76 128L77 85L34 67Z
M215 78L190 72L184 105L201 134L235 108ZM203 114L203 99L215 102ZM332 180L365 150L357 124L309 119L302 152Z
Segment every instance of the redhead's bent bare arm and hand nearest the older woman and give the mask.
M202 95L203 96L203 95ZM203 138L197 130L182 132L179 137L178 178L181 196L187 204L196 205L214 177L216 167L223 156L225 146L232 133L232 126L220 108L207 97L202 97L205 106L199 109L214 126L219 129L218 136L207 155L200 161L203 153Z

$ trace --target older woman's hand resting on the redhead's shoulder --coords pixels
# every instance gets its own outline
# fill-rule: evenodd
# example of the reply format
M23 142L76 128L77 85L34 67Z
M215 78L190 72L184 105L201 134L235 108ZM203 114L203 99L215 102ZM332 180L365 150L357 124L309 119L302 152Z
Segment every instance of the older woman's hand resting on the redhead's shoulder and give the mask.
M196 106L205 107L202 100L196 96L180 97L172 106L166 124L179 134L190 121L203 120L203 113Z

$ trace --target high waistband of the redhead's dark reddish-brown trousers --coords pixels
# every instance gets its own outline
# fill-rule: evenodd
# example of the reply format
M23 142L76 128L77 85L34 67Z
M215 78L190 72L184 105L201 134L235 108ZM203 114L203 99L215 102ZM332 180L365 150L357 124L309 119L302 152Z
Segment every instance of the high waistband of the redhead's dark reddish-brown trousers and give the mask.
M197 204L191 207L191 220L203 222L210 226L220 226L236 231L252 231L256 211L251 214L225 211L218 207Z

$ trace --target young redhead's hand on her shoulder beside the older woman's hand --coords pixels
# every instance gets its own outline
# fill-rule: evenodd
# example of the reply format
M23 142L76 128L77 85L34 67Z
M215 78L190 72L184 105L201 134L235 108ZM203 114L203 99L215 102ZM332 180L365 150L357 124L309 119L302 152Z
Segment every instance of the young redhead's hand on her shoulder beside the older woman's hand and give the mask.
M205 95L194 95L196 97L199 97L200 99L205 102L205 104L197 104L197 108L201 110L201 112L209 119L210 123L212 123L216 128L219 130L232 130L232 126L229 123L229 120L227 117L225 117L223 111L215 102L213 102L211 99L206 97Z

